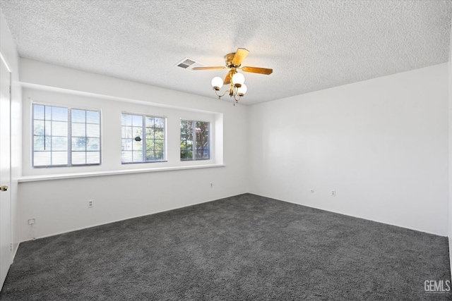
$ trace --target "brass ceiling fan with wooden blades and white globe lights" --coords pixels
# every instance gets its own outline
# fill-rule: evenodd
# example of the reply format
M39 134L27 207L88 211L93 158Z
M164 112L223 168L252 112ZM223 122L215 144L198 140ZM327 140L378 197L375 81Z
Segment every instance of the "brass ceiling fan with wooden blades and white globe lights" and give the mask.
M230 97L234 97L235 102L239 102L240 97L244 96L244 94L246 93L246 85L244 85L245 82L244 75L242 73L238 73L237 70L265 75L269 75L273 72L273 69L269 68L259 68L249 66L242 67L242 61L246 58L246 56L248 56L248 54L249 50L239 48L237 49L236 52L225 55L226 66L195 67L193 68L193 70L230 69L225 77L225 80L222 80L222 78L218 76L213 78L212 87L213 90L215 90L215 94L217 94L218 98L225 96L226 92L229 91ZM222 85L230 85L230 87L223 94L219 95L218 91L220 90Z

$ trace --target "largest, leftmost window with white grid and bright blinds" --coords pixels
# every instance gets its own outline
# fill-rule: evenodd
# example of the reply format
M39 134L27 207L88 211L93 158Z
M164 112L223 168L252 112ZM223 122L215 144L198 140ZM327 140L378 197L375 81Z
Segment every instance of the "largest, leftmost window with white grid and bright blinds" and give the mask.
M100 111L32 104L32 166L100 164Z

